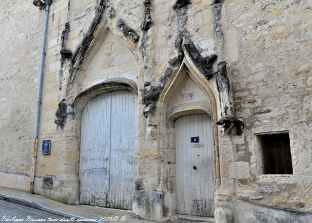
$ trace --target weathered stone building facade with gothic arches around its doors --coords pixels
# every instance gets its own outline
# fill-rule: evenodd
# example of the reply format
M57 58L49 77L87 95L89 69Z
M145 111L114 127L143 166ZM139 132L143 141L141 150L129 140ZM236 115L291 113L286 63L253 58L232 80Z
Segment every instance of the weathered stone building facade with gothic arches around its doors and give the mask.
M0 186L25 191L31 182L45 13L45 5L34 2L40 7L21 0L0 3ZM108 195L81 198L82 168L88 168L82 167L86 143L82 146L80 139L91 132L83 128L101 124L83 117L97 98L123 91L137 103L135 112L125 108L123 115L137 123L132 132L136 148L130 148L134 159L129 161L135 167L129 181L133 197L127 206L135 217L168 221L191 214L215 217L218 223L308 222L311 20L311 0L53 0L33 192L65 204L107 206L109 201L101 199ZM188 125L207 126L198 121L203 114L210 123L208 133L200 129L177 136L183 118L190 120L181 131ZM107 117L112 122L112 115ZM110 138L118 141L130 134L121 134L122 129ZM280 135L283 151L289 149L291 156L283 152L283 161L276 159L278 152L273 156L267 151ZM92 142L100 138L94 137ZM211 145L207 156L212 162L207 161L198 178L205 184L181 181L184 171L200 171L193 155L205 157L200 149L206 144L190 144L195 153L187 158L194 162L177 162L190 137L209 139L205 142ZM41 154L43 140L51 140L50 155ZM275 157L275 172L270 156ZM183 169L189 165L193 172ZM182 185L190 187L191 206L183 206L188 198ZM210 191L211 204L195 201L196 191Z

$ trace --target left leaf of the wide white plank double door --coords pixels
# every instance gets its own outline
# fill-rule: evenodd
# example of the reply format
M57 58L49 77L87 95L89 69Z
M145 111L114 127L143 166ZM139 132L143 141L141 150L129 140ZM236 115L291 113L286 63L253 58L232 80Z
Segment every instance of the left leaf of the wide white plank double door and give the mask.
M90 100L81 116L80 204L106 206L109 190L111 93Z

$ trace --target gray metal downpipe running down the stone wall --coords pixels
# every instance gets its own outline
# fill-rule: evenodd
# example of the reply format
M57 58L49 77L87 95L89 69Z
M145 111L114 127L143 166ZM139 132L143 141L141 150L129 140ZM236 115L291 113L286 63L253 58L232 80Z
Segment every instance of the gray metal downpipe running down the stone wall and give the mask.
M45 8L43 43L42 43L42 53L41 53L41 62L40 62L40 77L39 77L39 92L38 92L38 100L37 100L35 142L34 142L33 157L32 157L31 172L30 172L30 185L29 185L30 194L33 193L34 181L35 181L35 168L36 168L36 161L37 161L38 137L39 137L39 119L40 119L41 96L42 96L42 82L43 82L44 61L45 61L45 46L46 46L46 38L47 38L47 30L48 30L49 9L50 9L50 5L52 4L52 0L45 0L44 3L46 4L46 8Z

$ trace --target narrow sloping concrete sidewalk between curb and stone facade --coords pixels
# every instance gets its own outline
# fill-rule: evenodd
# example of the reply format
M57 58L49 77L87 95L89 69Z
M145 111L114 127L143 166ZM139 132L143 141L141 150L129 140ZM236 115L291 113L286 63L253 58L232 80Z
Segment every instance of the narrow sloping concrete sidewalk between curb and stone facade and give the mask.
M119 216L121 218L122 216L125 216L126 219L123 221L124 223L155 223L153 221L147 221L147 220L134 218L132 216L132 211L118 210L118 209L105 208L105 207L87 206L87 205L67 205L67 204L62 204L62 203L44 198L37 194L28 194L26 192L11 190L11 189L2 188L2 187L0 187L0 194L5 194L5 195L13 196L16 198L31 200L47 208L54 209L60 212L65 212L70 215L87 218L87 219L100 220L101 217ZM120 220L118 220L117 222L120 222Z

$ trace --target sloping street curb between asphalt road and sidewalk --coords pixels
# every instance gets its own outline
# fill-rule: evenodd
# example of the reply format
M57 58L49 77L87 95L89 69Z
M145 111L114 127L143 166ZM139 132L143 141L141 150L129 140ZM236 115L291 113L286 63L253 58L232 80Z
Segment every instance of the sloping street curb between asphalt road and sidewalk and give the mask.
M57 211L51 208L48 208L42 204L39 204L38 202L34 202L31 200L27 200L27 199L23 199L23 198L17 198L14 196L10 196L10 195L6 195L6 194L1 194L0 193L0 201L6 201L6 202L10 202L13 204L19 204L22 206L26 206L26 207L30 207L30 208L34 208L37 210L41 210L41 211L45 211L48 212L50 214L54 214L54 215L58 215L60 217L65 217L65 218L72 218L75 220L80 220L79 222L84 222L84 223L101 223L101 222L96 222L96 221L88 221L88 219L84 218L84 217L80 217L77 215L71 215L62 211ZM81 220L85 220L85 221L81 221Z

